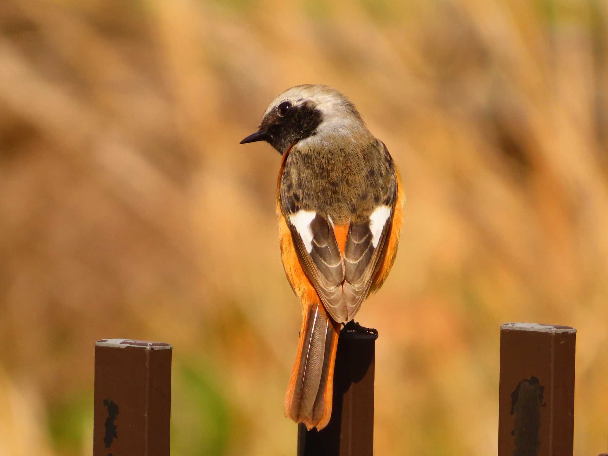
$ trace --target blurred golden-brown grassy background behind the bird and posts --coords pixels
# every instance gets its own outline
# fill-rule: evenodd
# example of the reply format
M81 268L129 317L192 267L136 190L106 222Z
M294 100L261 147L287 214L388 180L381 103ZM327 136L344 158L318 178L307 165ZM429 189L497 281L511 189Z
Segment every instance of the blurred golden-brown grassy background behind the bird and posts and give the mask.
M379 455L496 454L499 325L578 329L575 454L608 449L608 4L2 0L0 454L90 455L94 341L174 345L172 455L289 455L300 308L280 156L324 83L401 169Z

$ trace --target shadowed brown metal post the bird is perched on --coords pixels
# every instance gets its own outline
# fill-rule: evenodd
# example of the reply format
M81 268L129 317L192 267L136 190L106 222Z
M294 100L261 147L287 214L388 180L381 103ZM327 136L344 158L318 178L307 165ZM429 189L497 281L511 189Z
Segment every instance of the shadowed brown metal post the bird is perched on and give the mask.
M340 332L330 423L298 426L298 456L371 456L374 447L376 335Z

